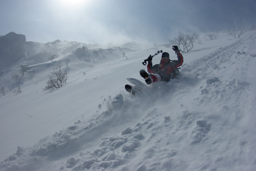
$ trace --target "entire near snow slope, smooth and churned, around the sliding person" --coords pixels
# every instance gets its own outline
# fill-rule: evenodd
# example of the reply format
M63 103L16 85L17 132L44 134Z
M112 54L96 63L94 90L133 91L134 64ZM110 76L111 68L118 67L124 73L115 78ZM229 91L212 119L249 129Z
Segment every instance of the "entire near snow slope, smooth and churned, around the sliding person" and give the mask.
M52 92L42 91L47 74L65 58L33 66L22 93L0 97L0 170L256 170L256 34L230 38L219 32L182 53L180 78L139 97L126 78L143 81L144 59L157 50L176 59L172 49L131 45L141 50L128 60L94 67L71 59L67 84Z

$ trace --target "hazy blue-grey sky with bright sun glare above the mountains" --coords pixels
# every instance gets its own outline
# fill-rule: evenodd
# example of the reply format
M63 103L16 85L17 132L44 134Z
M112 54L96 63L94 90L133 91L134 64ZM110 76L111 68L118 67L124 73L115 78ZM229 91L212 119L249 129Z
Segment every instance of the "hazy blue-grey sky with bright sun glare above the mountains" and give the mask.
M168 43L178 31L256 25L256 0L0 0L0 35L27 41Z

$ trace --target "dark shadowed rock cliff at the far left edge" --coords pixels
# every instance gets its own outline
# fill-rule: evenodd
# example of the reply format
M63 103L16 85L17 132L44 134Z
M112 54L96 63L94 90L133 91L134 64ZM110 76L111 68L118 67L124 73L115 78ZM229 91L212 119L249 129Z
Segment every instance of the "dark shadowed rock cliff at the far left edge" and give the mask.
M26 36L14 32L0 36L0 67L11 67L26 59Z

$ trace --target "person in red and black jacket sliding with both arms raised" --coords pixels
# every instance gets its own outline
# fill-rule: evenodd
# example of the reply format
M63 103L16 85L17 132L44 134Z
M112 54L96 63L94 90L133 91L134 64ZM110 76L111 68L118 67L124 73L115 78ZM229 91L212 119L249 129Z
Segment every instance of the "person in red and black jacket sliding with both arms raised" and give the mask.
M140 75L145 79L147 84L152 82L165 81L168 82L174 79L179 74L178 67L183 64L183 56L180 53L178 46L172 46L173 51L177 54L178 60L170 60L169 53L162 53L160 64L153 66L151 55L148 57L148 73L142 69Z

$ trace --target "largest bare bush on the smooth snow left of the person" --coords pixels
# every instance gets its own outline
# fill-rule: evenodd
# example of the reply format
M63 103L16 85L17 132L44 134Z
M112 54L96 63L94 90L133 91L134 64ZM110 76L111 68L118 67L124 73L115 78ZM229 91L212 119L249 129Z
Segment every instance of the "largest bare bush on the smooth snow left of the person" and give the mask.
M59 89L68 79L68 71L62 68L63 64L57 64L53 69L50 75L48 75L49 80L46 82L46 86L43 91Z

